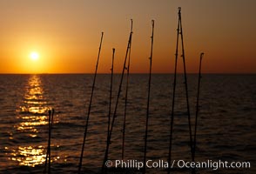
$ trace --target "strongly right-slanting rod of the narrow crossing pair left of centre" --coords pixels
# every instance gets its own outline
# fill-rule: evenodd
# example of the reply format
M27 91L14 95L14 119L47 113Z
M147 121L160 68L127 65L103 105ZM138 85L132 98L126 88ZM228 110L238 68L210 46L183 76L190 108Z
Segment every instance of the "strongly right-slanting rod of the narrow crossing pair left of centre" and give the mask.
M125 74L126 60L127 60L127 57L128 57L130 47L131 47L131 37L132 37L132 31L130 32L130 36L129 36L129 40L128 40L128 44L127 44L127 49L126 49L126 53L125 53L125 61L124 61L124 66L123 66L122 75L121 75L121 79L120 79L120 84L119 84L119 89L118 89L118 97L117 97L117 101L116 101L116 105L115 105L115 110L114 110L113 117L112 117L111 129L110 129L109 137L108 137L107 144L106 144L106 149L105 149L105 154L104 154L104 163L102 165L102 172L104 172L105 163L107 162L107 159L108 159L109 147L110 147L110 144L111 144L111 135L112 135L113 126L115 124L115 119L117 117L118 101L119 101L119 97L120 97L120 94L121 94L122 84L123 84L123 79L124 79L124 74Z

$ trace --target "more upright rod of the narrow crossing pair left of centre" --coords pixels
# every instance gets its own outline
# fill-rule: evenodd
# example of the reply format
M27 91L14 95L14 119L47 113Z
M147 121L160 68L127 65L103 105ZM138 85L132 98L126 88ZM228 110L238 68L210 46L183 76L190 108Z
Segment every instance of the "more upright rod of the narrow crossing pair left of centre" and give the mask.
M132 32L132 19L131 19L131 32ZM129 88L130 62L131 62L131 41L130 41L130 49L128 54L128 64L126 67L127 73L126 73L126 90L125 90L125 114L124 114L124 124L123 124L122 159L124 159L124 156L125 156L125 125L126 125L127 100L128 100L128 88Z

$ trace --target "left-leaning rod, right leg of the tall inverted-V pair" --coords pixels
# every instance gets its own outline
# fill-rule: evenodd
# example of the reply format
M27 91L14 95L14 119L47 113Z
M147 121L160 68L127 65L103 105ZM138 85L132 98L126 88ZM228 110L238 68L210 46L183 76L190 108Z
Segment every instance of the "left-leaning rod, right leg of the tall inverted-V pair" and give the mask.
M183 59L186 109L187 109L187 118L188 118L188 127L189 127L190 147L191 147L191 152L192 152L192 126L191 126L191 115L190 115L190 107L189 107L187 77L186 77L186 70L185 70L185 50L184 50L183 30L182 30L182 24L181 24L181 12L180 12L180 10L181 10L181 8L179 7L179 26L180 26L181 49L182 49L181 57Z

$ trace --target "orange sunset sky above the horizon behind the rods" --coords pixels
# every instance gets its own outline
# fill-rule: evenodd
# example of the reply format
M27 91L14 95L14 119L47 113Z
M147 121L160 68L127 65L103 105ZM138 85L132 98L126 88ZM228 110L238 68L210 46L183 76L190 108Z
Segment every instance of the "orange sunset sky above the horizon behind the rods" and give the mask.
M204 73L256 73L255 0L1 0L0 73L99 73L122 70L133 20L131 73L148 73L152 19L153 73L172 73L178 7L185 63ZM181 45L179 45L179 54ZM38 59L30 58L37 52ZM178 70L183 71L179 57Z

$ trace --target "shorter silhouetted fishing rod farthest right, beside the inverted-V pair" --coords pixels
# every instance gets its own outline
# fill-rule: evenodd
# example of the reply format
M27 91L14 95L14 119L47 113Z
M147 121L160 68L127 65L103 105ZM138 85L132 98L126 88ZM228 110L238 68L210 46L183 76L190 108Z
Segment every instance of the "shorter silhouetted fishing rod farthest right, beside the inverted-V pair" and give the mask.
M197 94L197 105L196 105L196 120L195 120L195 129L194 129L194 141L193 141L193 151L192 151L192 161L195 161L195 152L196 152L196 140L197 140L197 128L198 128L198 117L199 117L199 91L201 83L201 64L204 53L200 54L200 63L199 63L199 84L198 84L198 94Z

